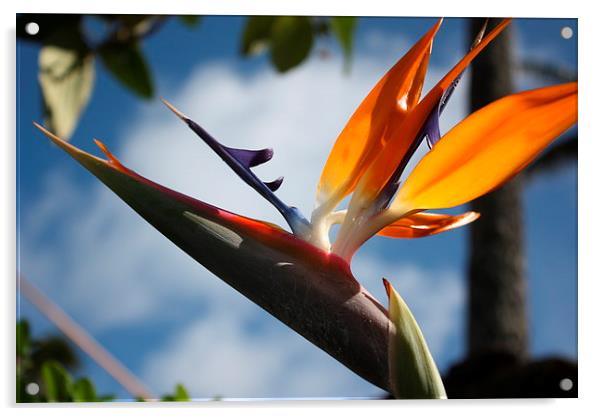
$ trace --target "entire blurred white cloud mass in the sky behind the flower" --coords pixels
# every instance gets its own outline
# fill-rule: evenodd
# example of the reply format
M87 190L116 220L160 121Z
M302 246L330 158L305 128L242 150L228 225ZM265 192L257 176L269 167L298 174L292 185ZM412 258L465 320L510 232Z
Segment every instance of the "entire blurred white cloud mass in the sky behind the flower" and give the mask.
M328 151L383 73L383 60L392 62L389 56L356 56L350 77L342 76L338 64L316 60L284 77L270 69L244 75L214 63L199 67L180 91L162 95L229 146L274 147L274 159L257 169L259 176L271 180L284 175L278 195L309 215ZM432 74L438 78L441 71ZM427 84L432 83L431 76ZM458 109L450 117L458 120L461 106L450 107ZM142 175L225 209L284 225L267 202L160 104L135 118L118 142L123 145L113 153ZM73 189L77 203L63 204L63 191ZM100 184L78 189L62 175L27 209L45 214L37 223L25 216L22 268L85 327L100 331L185 322L173 338L146 351L142 374L157 391L171 390L176 382L199 396L378 391L266 317ZM57 222L64 228L56 230L52 224ZM49 230L55 233L52 245L39 242ZM433 279L432 271L394 261L383 265L369 252L360 256L354 270L362 283L382 299L380 277L389 277L413 307L437 357L460 319L458 276L443 272L449 278ZM202 305L203 311L193 318L194 305ZM253 319L261 324L249 331Z

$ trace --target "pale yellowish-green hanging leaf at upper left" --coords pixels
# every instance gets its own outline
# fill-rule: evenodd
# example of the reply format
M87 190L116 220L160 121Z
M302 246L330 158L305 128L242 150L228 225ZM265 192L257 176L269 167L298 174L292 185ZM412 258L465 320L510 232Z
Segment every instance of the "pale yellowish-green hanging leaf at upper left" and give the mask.
M39 57L40 86L47 124L69 138L94 85L94 57L81 50L56 45L42 47Z

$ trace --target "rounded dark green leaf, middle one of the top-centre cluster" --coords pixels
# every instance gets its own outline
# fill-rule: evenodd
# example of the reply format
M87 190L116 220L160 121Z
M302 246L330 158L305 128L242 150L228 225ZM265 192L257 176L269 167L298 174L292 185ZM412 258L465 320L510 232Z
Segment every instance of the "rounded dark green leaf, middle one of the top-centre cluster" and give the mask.
M279 72L286 72L307 58L312 44L313 33L309 17L279 17L272 27L272 63Z

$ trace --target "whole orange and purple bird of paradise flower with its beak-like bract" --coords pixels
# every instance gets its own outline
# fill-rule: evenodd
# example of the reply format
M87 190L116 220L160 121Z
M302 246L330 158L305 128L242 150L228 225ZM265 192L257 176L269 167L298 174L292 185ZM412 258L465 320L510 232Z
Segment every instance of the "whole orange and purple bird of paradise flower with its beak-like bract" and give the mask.
M292 233L156 184L126 168L98 140L107 160L36 124L167 238L243 295L398 398L445 398L409 308L384 280L389 310L353 277L349 264L374 235L417 238L469 224L455 207L510 180L577 120L577 83L506 96L440 134L439 116L470 62L510 23L484 36L421 99L439 20L373 87L343 128L324 166L310 219L282 202L282 178L261 181L251 168L271 149L224 146L165 104L285 218ZM418 146L430 151L407 179ZM347 209L337 210L351 195ZM330 229L341 224L333 242Z

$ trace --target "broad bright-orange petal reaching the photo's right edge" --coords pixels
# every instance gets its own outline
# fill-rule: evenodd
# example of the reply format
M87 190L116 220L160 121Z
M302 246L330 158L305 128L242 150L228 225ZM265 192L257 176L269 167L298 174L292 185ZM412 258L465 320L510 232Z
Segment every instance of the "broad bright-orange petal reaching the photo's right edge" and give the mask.
M511 179L576 121L576 82L497 100L427 153L391 208L448 208L478 198Z

